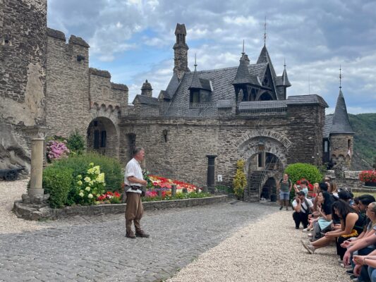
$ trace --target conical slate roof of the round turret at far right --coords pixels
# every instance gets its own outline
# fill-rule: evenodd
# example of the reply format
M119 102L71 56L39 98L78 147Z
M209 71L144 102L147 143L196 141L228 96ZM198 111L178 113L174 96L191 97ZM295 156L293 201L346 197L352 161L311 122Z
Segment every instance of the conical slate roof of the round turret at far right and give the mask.
M330 134L334 133L348 133L355 134L351 128L350 121L348 121L348 114L344 94L339 90L338 99L336 101L336 109L334 111L332 128Z

